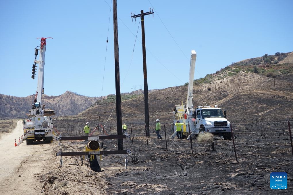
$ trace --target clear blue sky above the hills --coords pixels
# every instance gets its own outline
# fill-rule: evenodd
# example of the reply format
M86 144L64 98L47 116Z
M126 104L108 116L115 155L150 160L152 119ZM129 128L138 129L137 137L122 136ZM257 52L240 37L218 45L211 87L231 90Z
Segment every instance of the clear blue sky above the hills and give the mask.
M0 93L35 93L36 38L53 37L47 39L45 94L115 94L109 5L110 0L0 1ZM139 18L134 23L130 16L149 8L155 13L154 19L145 16L148 89L188 82L191 50L197 52L195 79L232 62L293 51L291 0L117 0L121 93L143 89L141 26Z

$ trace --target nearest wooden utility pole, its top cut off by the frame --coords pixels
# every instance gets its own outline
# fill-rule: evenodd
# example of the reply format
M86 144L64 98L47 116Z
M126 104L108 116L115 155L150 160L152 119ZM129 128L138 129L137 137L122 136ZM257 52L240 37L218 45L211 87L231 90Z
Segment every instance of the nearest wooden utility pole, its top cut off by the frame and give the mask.
M117 23L117 0L113 0L113 26L114 26L114 53L115 53L115 87L116 87L116 118L117 135L122 135L121 94L120 94L120 70L119 70L119 46ZM123 139L118 139L118 150L123 150Z

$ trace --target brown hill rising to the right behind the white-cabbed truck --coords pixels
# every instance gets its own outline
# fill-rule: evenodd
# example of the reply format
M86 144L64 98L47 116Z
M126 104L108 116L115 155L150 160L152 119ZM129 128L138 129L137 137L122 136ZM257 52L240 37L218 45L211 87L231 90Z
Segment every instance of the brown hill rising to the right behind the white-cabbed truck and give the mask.
M268 115L292 115L293 103L293 52L284 54L285 64L264 63L260 57L259 65L253 62L260 58L251 58L233 63L214 74L194 80L193 105L218 105L227 110L230 120L243 117ZM156 118L161 123L170 124L173 120L175 104L185 103L187 83L179 87L169 87L149 93L149 121L155 124ZM116 126L115 96L111 101L98 101L79 115L66 118L83 124L85 120L98 124ZM113 109L113 113L110 116ZM60 120L63 118L60 118ZM144 96L122 101L122 120L128 124L144 125ZM64 122L64 121L63 121Z

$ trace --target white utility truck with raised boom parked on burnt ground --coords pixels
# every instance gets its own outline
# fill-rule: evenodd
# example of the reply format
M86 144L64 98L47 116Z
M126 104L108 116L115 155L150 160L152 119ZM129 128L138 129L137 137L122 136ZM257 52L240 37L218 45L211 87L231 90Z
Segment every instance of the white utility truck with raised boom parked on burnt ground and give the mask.
M195 108L192 104L193 99L193 80L195 70L196 52L191 51L189 83L186 98L186 105L175 105L173 113L174 122L172 128L174 134L170 138L176 136L176 121L184 123L181 126L183 137L188 137L190 128L190 135L197 136L200 132L210 132L214 135L222 135L224 139L231 139L230 122L226 119L226 111L224 113L217 105L198 106Z

